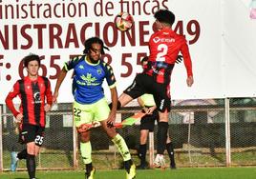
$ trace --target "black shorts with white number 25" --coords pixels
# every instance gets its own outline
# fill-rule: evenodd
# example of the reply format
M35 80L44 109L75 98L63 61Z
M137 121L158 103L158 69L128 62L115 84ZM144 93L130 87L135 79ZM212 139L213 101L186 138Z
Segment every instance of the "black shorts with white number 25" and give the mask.
M36 146L41 147L44 142L44 127L23 124L19 134L19 142L27 144L34 142Z

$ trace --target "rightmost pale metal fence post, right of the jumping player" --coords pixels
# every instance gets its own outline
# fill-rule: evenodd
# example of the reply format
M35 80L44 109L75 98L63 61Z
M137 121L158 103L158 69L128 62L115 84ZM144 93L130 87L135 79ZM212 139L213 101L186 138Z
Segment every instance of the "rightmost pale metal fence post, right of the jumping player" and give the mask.
M224 111L225 111L225 166L230 167L231 165L231 151L230 151L230 109L229 109L229 98L224 99Z

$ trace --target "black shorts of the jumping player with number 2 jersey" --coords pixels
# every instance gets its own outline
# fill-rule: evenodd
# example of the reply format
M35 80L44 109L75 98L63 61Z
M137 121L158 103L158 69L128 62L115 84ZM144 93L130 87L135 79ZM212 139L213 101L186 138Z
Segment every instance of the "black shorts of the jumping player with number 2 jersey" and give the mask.
M171 97L169 84L160 84L152 76L139 73L135 77L132 85L123 91L133 99L144 93L153 94L158 110L161 112L171 109Z

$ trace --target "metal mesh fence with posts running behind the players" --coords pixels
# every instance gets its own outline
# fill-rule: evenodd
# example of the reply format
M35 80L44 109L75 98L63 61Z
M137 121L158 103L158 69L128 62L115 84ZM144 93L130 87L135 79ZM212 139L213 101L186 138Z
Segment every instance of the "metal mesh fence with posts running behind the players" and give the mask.
M123 108L118 111L117 120L136 111L139 107ZM1 106L0 116L0 170L9 170L11 151L25 146L17 143L13 116L5 105ZM253 98L173 101L169 124L178 168L256 166L256 102ZM157 127L155 129L157 131ZM139 123L117 131L139 164ZM155 149L156 133L151 137ZM76 135L72 104L59 104L47 115L44 144L36 158L37 169L82 169ZM91 141L97 169L120 167L117 149L100 128L93 129ZM167 154L165 159L168 162ZM18 170L21 169L26 169L25 161L19 162Z

